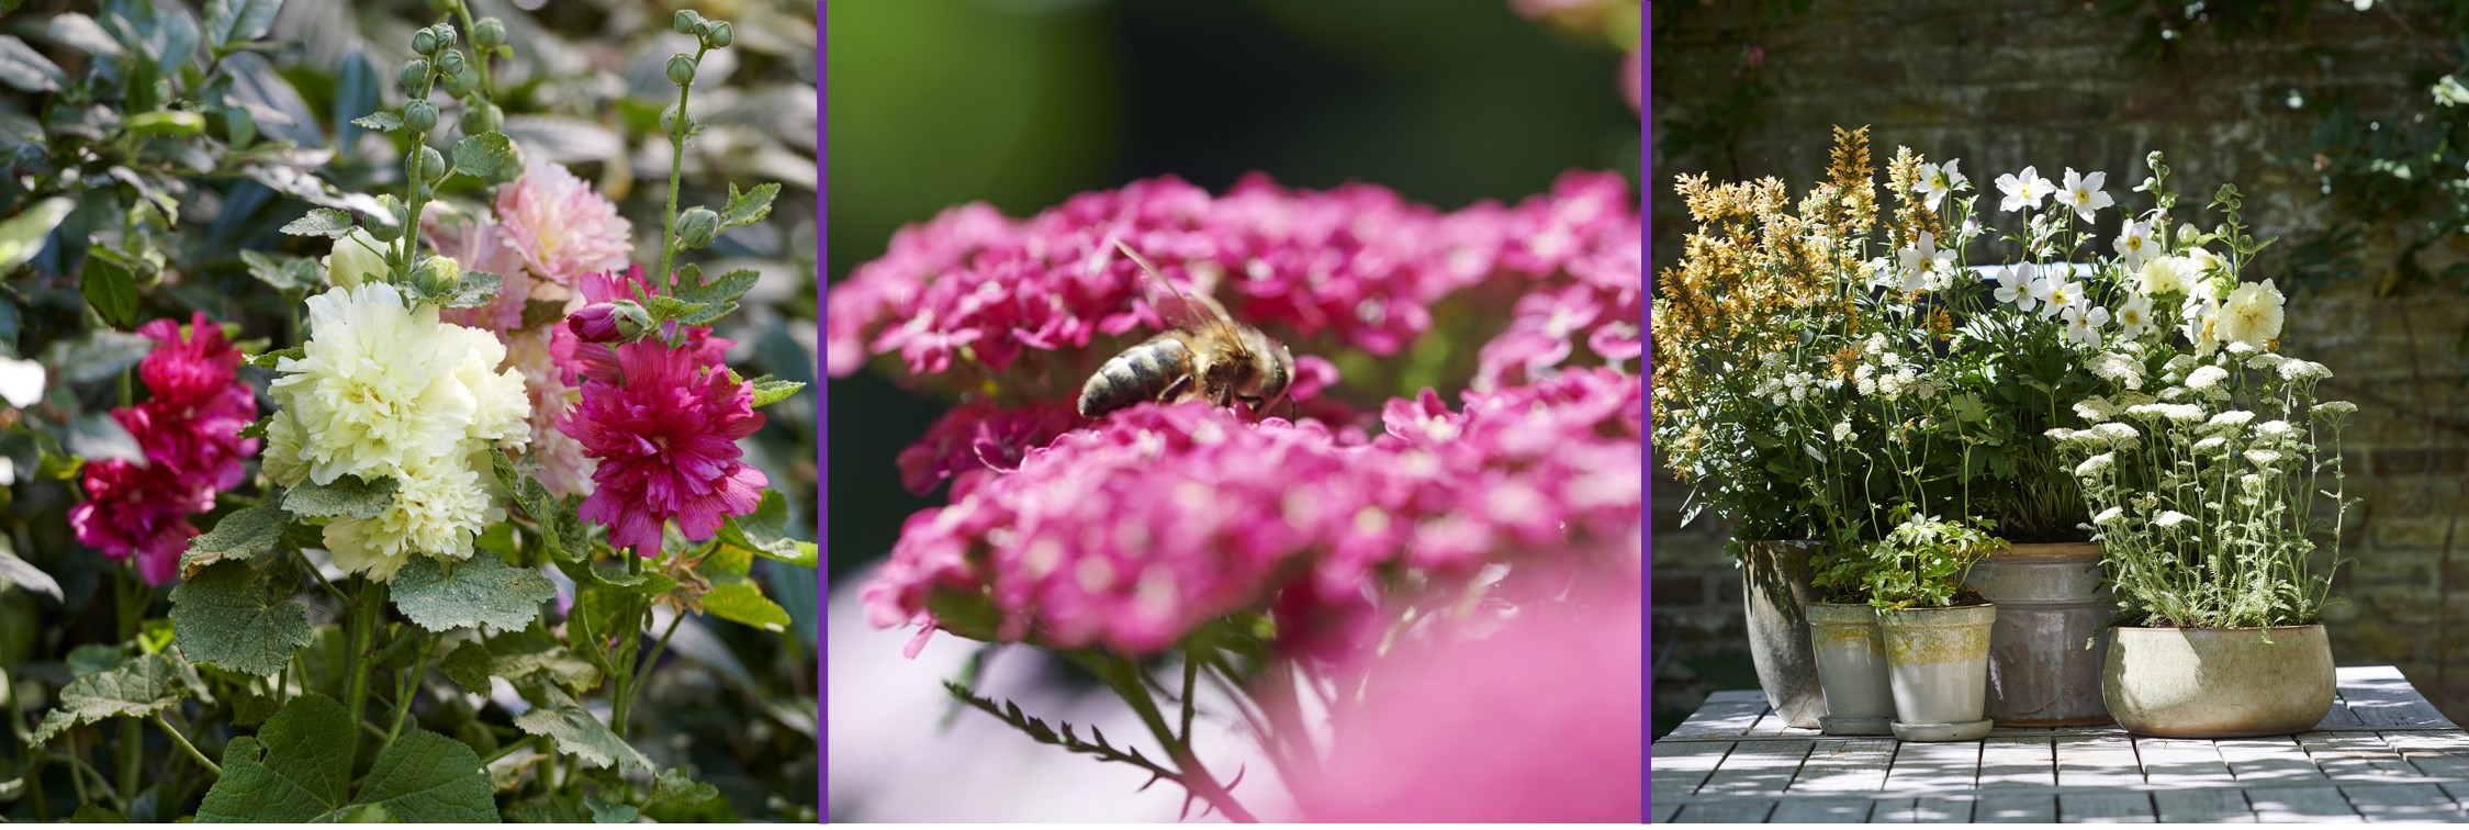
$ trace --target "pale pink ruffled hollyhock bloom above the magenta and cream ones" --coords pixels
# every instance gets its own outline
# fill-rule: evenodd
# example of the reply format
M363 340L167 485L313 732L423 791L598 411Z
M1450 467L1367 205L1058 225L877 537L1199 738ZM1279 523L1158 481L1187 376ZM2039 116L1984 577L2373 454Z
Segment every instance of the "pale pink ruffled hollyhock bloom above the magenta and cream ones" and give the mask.
M551 161L533 158L523 175L499 188L496 220L531 274L556 284L615 272L635 254L635 230L617 205Z

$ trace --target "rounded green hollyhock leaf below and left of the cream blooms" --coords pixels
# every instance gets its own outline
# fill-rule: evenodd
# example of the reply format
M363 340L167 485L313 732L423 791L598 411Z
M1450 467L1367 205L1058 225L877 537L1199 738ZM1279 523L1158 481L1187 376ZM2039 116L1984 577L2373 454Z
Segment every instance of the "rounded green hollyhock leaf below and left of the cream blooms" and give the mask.
M170 622L190 660L274 674L311 640L309 608L249 563L220 563L170 590Z

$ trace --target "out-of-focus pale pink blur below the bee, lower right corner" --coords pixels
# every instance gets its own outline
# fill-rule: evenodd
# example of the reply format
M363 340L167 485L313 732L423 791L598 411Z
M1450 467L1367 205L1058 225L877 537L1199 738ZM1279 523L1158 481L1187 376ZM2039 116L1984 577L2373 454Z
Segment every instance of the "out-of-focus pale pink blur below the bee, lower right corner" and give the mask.
M1370 657L1323 773L1294 783L1301 820L1644 820L1642 593L1615 583Z

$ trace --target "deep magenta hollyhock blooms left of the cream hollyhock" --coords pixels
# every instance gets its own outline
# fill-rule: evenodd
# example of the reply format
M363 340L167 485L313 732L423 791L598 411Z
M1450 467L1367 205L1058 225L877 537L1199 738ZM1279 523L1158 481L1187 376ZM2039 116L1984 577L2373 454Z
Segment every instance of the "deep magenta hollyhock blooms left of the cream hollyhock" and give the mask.
M138 361L138 380L153 395L111 410L143 459L86 464L86 501L69 509L77 541L114 561L136 556L148 585L180 571L198 529L190 514L215 509L215 494L244 477L242 462L257 440L239 432L257 420L257 395L239 383L239 348L200 311L183 333L180 321L158 319L138 329L156 341Z

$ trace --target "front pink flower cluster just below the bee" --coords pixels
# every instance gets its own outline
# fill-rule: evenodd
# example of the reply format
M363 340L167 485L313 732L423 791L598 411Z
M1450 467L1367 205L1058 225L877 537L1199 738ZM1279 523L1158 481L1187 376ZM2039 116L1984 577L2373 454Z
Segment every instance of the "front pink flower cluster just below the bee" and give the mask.
M1642 541L1634 375L1573 371L1449 410L1390 400L1385 435L1138 405L960 477L867 585L876 625L1148 655L1274 608L1281 647L1343 655L1383 573L1472 578L1526 551ZM1575 551L1575 553L1570 553ZM990 603L988 615L951 603ZM985 630L973 620L993 620Z

